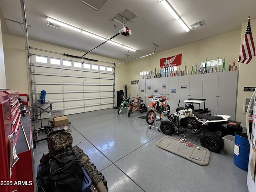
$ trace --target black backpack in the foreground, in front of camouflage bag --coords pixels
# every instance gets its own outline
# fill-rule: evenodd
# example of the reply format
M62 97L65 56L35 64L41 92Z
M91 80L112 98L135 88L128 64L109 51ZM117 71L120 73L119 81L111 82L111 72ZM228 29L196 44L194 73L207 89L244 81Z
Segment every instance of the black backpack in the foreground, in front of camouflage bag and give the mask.
M82 164L73 151L58 154L40 164L38 192L82 192L83 176Z

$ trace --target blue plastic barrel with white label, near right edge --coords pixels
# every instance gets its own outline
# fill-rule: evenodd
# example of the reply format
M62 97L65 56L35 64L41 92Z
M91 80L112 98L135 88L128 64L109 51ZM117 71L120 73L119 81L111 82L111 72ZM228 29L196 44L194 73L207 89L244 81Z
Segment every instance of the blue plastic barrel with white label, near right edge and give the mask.
M234 164L242 170L248 170L250 144L247 134L235 132Z

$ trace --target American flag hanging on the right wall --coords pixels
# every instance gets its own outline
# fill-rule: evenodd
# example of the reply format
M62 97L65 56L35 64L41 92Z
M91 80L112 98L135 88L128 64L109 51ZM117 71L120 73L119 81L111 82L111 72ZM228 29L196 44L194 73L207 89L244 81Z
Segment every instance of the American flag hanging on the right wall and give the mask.
M242 44L238 62L248 64L250 60L252 60L253 56L255 56L255 47L252 38L250 18L248 18L248 24L244 35L244 41Z

